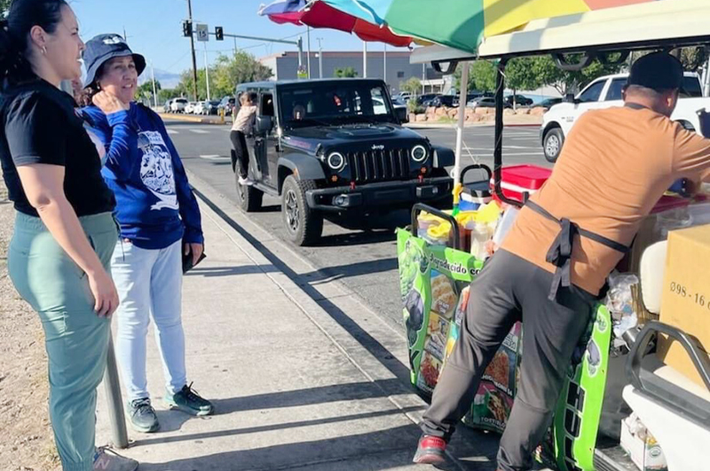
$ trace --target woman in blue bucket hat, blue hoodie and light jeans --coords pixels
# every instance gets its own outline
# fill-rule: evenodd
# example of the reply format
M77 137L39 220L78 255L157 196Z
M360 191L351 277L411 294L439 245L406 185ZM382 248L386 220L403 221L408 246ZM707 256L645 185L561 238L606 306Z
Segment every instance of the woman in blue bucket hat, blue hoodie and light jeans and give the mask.
M150 315L166 376L165 402L193 415L212 404L187 385L181 320L182 257L202 253L201 216L185 168L162 120L133 102L146 60L118 35L96 36L83 54L93 106L84 108L106 146L102 174L116 196L121 237L112 259L121 304L117 355L128 389L129 418L139 432L160 425L146 381Z

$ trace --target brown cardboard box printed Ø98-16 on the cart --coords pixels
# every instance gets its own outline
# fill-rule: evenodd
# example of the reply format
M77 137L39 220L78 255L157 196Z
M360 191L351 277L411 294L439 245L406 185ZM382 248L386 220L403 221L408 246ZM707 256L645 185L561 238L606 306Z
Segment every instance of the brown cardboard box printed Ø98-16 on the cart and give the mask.
M710 348L709 264L710 226L672 231L668 235L660 322L696 337L706 354ZM678 342L659 339L659 358L705 387L695 365Z

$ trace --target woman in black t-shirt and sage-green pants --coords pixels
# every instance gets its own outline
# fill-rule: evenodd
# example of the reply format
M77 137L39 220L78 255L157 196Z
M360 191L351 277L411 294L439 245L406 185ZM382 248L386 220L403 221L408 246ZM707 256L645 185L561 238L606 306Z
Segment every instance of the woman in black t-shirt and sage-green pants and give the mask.
M62 467L130 471L138 463L94 443L96 388L118 305L109 275L117 231L97 149L74 100L59 91L62 80L81 76L83 49L64 0L13 0L0 21L0 162L17 210L8 268L42 320Z

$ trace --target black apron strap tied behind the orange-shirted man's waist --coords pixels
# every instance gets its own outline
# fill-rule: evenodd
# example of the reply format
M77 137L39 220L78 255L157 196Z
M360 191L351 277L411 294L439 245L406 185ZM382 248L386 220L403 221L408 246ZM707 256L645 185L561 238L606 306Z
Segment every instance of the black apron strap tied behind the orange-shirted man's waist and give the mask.
M525 206L529 207L534 212L537 212L540 216L548 220L555 221L560 226L560 232L557 233L555 240L550 246L548 254L545 258L548 263L551 263L556 267L555 275L552 279L552 285L550 286L548 295L549 300L556 299L557 290L560 286L563 288L569 288L572 284L570 274L572 271L572 248L574 246L575 235L587 237L588 239L601 243L612 250L620 251L621 253L627 253L627 251L629 251L629 248L626 245L612 241L611 239L604 237L604 235L599 235L586 229L582 229L571 220L566 218L558 220L539 204L528 201Z

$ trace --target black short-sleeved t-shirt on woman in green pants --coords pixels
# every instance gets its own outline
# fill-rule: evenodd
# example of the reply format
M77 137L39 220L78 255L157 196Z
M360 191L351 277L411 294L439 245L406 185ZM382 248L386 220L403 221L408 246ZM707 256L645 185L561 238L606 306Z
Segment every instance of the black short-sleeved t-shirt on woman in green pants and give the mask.
M65 168L64 193L76 215L113 212L114 194L101 177L96 146L66 92L44 80L14 86L0 95L0 163L10 199L19 212L37 216L22 189L17 166Z

